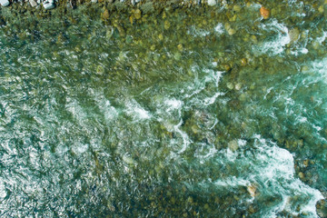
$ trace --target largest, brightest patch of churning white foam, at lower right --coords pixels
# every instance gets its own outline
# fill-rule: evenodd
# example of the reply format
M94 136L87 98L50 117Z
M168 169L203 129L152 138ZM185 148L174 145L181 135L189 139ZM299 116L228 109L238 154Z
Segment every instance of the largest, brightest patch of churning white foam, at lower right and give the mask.
M213 184L235 187L257 183L258 188L263 190L261 194L281 196L281 202L269 208L269 211L262 211L262 217L276 217L282 211L293 215L307 213L308 217L318 217L315 204L323 198L322 193L302 183L296 177L292 154L276 144L264 140L261 135L254 135L253 138L255 142L251 152L245 152L243 147L246 142L238 140L239 148L236 152L226 149L224 153L218 152L218 155L213 157L217 158L217 163L227 164L232 169L237 169L236 173L238 174L219 179ZM249 146L246 147L249 149ZM244 172L239 170L243 164L248 166ZM207 183L211 183L211 180L207 181ZM295 195L298 196L298 199L292 198ZM252 198L253 196L249 194L248 201L251 201ZM300 212L296 208L299 208Z

